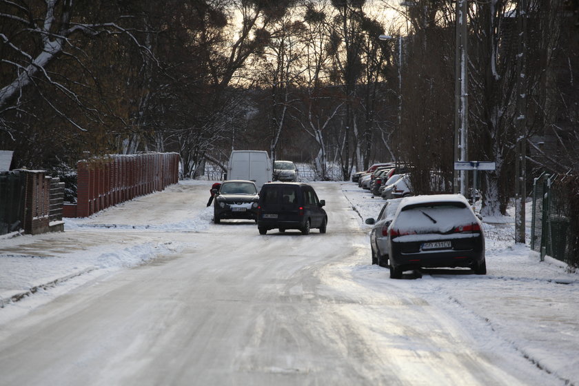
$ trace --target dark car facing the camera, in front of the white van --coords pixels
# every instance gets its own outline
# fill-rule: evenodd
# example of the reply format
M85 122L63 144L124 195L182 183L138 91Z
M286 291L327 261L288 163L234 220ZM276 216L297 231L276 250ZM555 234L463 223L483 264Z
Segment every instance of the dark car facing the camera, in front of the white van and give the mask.
M213 221L223 219L250 219L257 221L259 196L253 181L223 181L213 204Z

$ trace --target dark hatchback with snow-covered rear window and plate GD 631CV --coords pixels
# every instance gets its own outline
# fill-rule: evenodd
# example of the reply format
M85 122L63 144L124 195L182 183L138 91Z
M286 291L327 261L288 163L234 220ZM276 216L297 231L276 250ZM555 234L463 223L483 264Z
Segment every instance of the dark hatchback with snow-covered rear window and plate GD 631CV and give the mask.
M470 267L487 273L485 235L460 194L406 197L388 227L391 278L418 267Z

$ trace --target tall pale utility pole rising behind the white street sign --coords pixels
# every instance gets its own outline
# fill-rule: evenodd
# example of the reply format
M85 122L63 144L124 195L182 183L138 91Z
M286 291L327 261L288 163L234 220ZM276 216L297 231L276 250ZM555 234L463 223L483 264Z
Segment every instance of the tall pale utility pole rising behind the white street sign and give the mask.
M468 159L468 7L456 0L456 54L454 62L454 161ZM467 194L467 170L454 170L454 193Z

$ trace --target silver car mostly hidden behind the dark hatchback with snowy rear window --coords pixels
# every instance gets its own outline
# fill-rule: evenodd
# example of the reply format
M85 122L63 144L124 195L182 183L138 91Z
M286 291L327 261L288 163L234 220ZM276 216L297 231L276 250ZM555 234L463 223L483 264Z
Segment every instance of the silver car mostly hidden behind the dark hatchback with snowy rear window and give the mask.
M391 199L384 204L378 219L366 219L366 223L374 225L370 231L370 247L372 249L372 264L387 267L388 264L388 227L394 219L398 204L402 199Z

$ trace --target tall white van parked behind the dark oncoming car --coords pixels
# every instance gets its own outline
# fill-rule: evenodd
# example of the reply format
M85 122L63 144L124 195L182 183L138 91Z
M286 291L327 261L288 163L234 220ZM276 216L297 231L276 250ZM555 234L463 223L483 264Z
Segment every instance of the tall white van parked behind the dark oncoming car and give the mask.
M228 180L254 181L257 190L264 183L272 182L272 161L262 150L234 150L227 163Z

